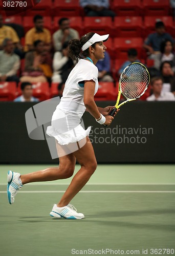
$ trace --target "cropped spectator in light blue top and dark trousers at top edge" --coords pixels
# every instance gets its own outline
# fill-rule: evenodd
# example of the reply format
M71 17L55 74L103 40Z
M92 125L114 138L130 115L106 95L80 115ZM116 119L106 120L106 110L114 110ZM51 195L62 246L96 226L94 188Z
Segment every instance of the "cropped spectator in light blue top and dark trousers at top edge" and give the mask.
M109 9L108 0L80 0L80 6L84 9L86 16L116 16L115 12Z

